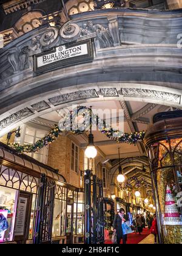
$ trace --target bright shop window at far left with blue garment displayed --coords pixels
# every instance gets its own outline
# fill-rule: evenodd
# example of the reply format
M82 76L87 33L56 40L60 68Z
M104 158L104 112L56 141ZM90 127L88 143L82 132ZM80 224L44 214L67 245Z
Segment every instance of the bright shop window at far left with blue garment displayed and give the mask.
M0 190L0 243L13 241L18 190L1 187Z

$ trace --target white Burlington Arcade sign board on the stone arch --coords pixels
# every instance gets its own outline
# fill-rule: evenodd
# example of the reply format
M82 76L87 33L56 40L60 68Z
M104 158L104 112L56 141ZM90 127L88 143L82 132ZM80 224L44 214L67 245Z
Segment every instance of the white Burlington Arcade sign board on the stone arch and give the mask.
M37 68L49 65L51 63L59 62L60 60L71 59L78 56L88 54L87 43L66 48L66 46L58 46L55 52L37 57Z

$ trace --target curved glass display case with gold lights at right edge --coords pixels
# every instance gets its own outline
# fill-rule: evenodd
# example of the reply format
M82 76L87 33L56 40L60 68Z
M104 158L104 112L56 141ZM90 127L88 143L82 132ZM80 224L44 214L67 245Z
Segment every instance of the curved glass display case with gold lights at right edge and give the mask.
M160 243L182 243L182 111L158 113L144 139L150 162Z

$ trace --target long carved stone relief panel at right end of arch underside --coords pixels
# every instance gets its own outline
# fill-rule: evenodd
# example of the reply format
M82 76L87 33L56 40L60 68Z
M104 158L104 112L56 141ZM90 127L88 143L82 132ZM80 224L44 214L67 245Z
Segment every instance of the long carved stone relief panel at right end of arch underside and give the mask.
M162 101L172 101L178 104L180 103L181 99L180 94L167 93L166 91L155 91L138 88L122 88L121 91L126 97L161 99Z

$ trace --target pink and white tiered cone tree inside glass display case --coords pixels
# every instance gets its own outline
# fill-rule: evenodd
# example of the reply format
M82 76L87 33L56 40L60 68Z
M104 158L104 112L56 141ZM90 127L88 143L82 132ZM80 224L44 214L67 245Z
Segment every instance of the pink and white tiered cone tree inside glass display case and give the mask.
M166 188L166 202L164 211L164 225L182 225L180 213L178 212L177 205L170 191L170 187Z

